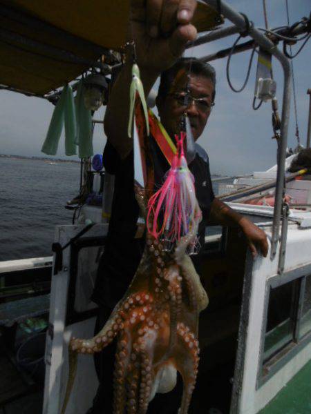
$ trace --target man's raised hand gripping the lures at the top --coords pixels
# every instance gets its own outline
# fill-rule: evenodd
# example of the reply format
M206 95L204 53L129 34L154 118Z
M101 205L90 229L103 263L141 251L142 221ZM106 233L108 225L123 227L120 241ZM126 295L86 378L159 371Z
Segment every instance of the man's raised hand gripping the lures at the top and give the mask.
M131 0L129 30L141 70L158 76L182 55L196 39L195 9L196 0Z

